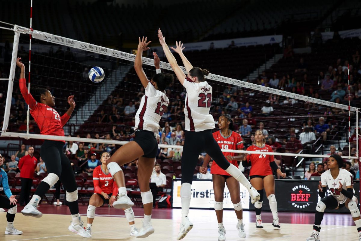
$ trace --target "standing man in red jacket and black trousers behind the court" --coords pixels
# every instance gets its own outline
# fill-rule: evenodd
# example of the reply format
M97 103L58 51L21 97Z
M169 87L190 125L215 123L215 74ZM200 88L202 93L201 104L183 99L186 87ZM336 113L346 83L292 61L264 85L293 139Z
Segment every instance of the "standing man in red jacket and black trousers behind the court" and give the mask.
M34 176L36 164L38 163L38 159L36 159L34 156L34 147L29 146L27 152L28 154L20 158L19 161L21 179L21 192L19 202L21 206L25 206L26 203L29 203L32 177Z

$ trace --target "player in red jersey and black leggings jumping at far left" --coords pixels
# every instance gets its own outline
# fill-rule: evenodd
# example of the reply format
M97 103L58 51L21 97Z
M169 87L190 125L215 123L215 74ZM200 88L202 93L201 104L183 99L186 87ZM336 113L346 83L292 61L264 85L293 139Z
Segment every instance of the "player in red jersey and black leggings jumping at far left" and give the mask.
M21 94L26 104L29 105L30 114L36 124L38 124L40 133L42 135L64 136L63 126L68 122L75 108L74 95L68 97L70 108L64 115L60 116L59 113L52 108L55 106L55 97L52 96L51 92L47 89L32 90L36 98L35 100L26 87L25 66L21 62L21 58L17 58L16 65L21 68L19 79ZM60 180L66 190L66 200L68 201L67 203L72 217L71 224L68 228L69 231L77 233L82 237L91 238L91 235L85 231L83 221L79 215L78 188L75 182L73 168L63 152L64 143L65 141L44 141L40 148L40 156L49 174L40 182L35 194L21 213L25 216L33 216L36 218L43 216L37 208L40 199L49 188Z

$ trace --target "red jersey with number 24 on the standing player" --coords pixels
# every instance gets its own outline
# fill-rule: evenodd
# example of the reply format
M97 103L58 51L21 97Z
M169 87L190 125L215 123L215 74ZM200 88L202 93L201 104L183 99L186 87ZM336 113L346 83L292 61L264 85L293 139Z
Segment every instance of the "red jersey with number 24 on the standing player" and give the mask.
M247 148L247 151L267 151L273 152L272 147L265 145L264 147L258 147L252 145ZM251 161L251 170L249 171L249 176L267 176L272 175L272 169L270 166L271 162L274 162L273 155L266 154L247 154L247 162Z

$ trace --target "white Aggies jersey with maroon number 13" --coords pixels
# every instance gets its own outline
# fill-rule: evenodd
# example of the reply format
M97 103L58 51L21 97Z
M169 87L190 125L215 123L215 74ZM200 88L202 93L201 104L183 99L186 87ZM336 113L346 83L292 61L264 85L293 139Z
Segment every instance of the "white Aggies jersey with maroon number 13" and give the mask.
M168 104L169 99L165 92L156 90L149 82L135 115L134 130L148 130L158 135L159 121Z

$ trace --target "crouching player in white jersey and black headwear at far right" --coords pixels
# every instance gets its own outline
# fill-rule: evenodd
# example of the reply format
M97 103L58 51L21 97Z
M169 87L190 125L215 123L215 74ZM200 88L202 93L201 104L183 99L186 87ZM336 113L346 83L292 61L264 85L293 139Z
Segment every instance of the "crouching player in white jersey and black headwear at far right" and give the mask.
M361 241L361 217L357 207L357 196L353 190L353 177L350 172L342 169L343 160L339 155L331 155L327 167L329 170L322 173L318 185L318 195L322 198L317 203L313 232L306 241L319 241L319 231L325 209L339 209L346 207L350 210L353 221L355 221L358 240ZM330 189L330 195L325 197L326 187ZM336 240L336 239L335 239Z

